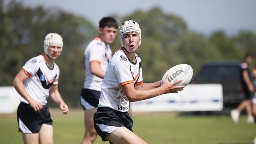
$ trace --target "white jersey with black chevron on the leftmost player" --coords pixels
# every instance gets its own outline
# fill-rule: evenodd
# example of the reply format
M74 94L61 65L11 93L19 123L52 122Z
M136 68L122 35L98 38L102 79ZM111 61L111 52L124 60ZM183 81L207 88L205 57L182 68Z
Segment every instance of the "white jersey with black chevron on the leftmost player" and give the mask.
M52 69L46 65L45 55L39 55L28 60L22 67L24 73L29 77L24 81L26 92L33 100L46 105L46 98L49 96L49 90L52 85L58 85L59 67L54 63ZM20 102L28 103L24 98Z

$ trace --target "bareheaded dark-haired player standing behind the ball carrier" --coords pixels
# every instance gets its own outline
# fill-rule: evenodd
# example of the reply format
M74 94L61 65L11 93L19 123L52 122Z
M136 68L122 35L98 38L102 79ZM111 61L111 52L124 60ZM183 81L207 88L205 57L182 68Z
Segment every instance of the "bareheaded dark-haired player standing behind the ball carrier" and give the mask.
M81 105L84 109L85 134L82 144L92 144L97 133L93 126L93 114L100 98L100 85L104 78L112 52L109 47L117 34L117 21L104 17L99 22L99 37L89 43L84 53L85 81L81 91Z

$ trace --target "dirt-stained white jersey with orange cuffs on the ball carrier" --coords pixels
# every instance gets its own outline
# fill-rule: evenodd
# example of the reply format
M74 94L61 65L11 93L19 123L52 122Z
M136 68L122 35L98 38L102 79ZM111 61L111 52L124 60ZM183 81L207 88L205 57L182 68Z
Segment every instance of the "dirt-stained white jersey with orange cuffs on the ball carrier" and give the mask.
M137 54L135 58L136 63L130 61L122 48L115 52L102 81L98 107L109 107L120 112L129 110L129 101L121 86L143 83L141 59Z

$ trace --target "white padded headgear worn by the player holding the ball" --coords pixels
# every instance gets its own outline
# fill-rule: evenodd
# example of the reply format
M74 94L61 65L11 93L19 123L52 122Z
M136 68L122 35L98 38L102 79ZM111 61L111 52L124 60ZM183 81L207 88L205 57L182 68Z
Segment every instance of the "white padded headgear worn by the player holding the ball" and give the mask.
M130 31L136 31L137 33L139 33L139 45L141 45L141 29L139 28L139 24L134 20L127 20L125 22L122 22L122 24L119 26L119 38L122 47L124 47L124 44L122 43L122 37L124 33Z

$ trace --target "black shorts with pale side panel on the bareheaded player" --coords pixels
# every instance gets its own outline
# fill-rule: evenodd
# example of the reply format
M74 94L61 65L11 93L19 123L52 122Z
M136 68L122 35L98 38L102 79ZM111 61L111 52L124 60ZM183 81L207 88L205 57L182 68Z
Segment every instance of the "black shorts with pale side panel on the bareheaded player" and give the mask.
M83 109L94 109L98 107L100 99L100 91L91 89L82 89L80 102Z

